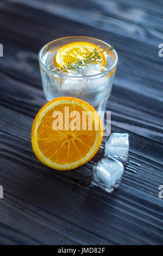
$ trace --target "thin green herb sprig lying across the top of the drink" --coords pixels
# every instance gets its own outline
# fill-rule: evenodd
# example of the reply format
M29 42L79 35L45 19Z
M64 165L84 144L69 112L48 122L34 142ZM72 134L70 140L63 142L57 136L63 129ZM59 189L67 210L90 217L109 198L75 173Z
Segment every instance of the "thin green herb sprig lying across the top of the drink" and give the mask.
M112 50L114 48L114 45L111 45L109 50ZM97 48L93 49L93 52L91 52L89 55L87 55L83 59L78 59L76 62L68 62L67 65L64 65L62 68L55 68L54 71L59 71L59 73L65 71L65 70L72 70L72 69L83 69L83 66L89 65L91 62L98 62L101 59L101 56L99 53L102 53L107 50L103 50L101 52L97 51Z

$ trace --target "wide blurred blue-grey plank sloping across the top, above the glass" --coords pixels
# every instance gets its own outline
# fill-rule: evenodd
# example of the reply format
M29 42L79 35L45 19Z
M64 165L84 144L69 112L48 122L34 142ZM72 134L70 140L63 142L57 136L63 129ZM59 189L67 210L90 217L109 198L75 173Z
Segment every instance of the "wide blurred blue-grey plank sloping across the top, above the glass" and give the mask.
M29 5L30 8L43 10L48 14L57 15L63 19L66 18L67 20L122 36L126 35L128 38L139 39L142 42L148 41L148 44L156 46L160 44L160 38L162 37L162 14L153 11L151 15L148 10L137 8L131 3L124 4L122 1L108 2L106 0L101 2L85 0L80 4L79 1L66 0L55 1L55 3L48 1L48 4L44 0L39 2L29 0L26 3L22 3L21 0L15 0L14 3L16 4L12 6L12 10L15 7L21 7L21 4ZM9 9L4 4L2 7Z

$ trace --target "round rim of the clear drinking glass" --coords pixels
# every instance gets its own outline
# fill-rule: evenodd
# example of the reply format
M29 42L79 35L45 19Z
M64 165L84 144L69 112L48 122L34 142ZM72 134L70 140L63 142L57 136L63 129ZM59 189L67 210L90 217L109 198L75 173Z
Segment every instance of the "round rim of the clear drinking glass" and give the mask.
M95 75L89 75L89 76L69 76L69 75L66 75L66 74L61 74L61 73L58 73L57 71L53 71L49 68L47 68L47 66L45 64L43 64L42 62L42 58L41 58L41 54L42 54L42 51L48 47L48 45L52 44L52 42L56 42L56 41L59 41L61 39L68 39L68 38L87 38L87 39L94 39L94 40L97 40L99 42L102 42L103 44L107 45L107 46L111 46L109 44L107 44L106 42L102 41L102 40L99 40L97 38L91 38L90 36L66 36L64 38L58 38L58 39L55 39L55 40L52 40L50 42L48 42L46 45L44 45L41 50L39 51L39 63L41 65L41 68L43 68L43 71L47 72L48 75L57 75L57 76L60 76L62 78L72 78L72 79L78 79L78 80L83 80L83 79L96 79L96 78L99 78L99 77L103 77L105 75L108 75L108 73L110 73L112 70L115 69L116 65L117 65L117 61L118 61L118 55L117 55L117 52L116 50L113 48L112 51L114 51L115 53L115 60L114 60L114 63L112 64L112 66L108 69L106 69L105 71L101 72L101 73L98 73L98 74L95 74ZM49 74L50 73L50 74Z

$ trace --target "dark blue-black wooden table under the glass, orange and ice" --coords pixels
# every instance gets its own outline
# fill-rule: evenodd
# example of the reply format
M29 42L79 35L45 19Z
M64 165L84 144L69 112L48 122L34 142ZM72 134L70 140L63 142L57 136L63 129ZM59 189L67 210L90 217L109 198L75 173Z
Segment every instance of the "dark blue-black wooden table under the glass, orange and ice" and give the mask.
M1 244L162 244L162 10L147 0L0 2ZM70 35L115 44L118 53L111 130L129 133L129 159L141 168L126 171L112 194L87 186L91 161L59 172L32 151L32 123L46 103L37 53Z

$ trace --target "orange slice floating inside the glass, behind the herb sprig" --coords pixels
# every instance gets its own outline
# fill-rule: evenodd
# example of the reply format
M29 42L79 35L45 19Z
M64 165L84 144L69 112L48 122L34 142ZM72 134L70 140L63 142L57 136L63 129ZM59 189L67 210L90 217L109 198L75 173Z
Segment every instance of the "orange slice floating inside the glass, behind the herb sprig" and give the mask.
M89 56L94 49L101 52L102 49L97 45L91 44L90 42L71 42L59 48L54 56L54 65L58 68L62 68L64 65L68 65L68 62L73 63L78 59L83 59ZM101 59L98 60L98 64L101 66L106 66L106 57L103 52L99 53Z

